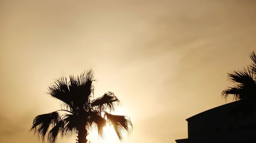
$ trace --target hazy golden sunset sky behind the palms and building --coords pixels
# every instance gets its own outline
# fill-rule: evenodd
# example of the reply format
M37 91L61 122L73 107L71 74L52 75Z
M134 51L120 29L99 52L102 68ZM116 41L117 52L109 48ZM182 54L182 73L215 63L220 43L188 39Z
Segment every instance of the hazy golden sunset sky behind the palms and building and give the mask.
M250 64L255 13L242 0L0 0L0 142L42 142L29 129L60 108L48 86L89 69L95 97L114 92L132 120L122 142L187 138L185 119L232 101L221 92Z

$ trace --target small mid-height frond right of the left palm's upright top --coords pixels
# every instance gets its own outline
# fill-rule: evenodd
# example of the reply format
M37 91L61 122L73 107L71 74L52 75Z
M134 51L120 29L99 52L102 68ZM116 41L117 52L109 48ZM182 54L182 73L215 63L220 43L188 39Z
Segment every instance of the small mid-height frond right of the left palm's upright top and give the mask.
M115 106L119 105L119 100L114 93L108 92L103 96L93 100L91 105L97 106L97 109L100 111L106 111L107 109L114 111Z

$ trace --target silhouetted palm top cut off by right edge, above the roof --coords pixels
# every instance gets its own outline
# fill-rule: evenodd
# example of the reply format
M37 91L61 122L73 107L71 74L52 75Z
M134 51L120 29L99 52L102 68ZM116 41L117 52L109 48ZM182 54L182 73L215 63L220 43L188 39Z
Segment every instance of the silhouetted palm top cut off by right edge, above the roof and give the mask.
M234 86L224 90L222 96L227 98L229 94L232 94L234 100L256 102L256 54L254 51L250 54L250 59L253 63L247 69L228 73Z

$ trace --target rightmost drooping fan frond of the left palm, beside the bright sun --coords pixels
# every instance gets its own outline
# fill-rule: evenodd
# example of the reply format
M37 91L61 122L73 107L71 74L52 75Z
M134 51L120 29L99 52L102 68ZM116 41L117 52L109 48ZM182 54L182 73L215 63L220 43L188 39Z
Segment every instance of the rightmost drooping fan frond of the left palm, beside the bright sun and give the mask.
M124 137L124 134L130 134L133 129L133 124L129 117L112 115L105 112L106 118L110 121L114 127L116 134L120 140Z

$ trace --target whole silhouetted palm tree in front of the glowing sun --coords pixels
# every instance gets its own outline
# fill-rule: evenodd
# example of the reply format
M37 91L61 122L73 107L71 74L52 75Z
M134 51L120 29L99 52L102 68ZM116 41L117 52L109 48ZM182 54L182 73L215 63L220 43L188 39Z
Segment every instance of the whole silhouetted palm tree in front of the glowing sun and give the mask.
M57 79L48 88L48 93L62 101L63 109L38 115L30 130L38 134L42 140L47 136L50 143L55 142L58 135L61 137L77 135L78 143L87 143L87 135L94 125L98 129L98 134L102 136L103 127L110 123L121 140L125 133L131 132L132 122L129 117L109 113L119 104L114 93L108 92L92 99L93 81L95 79L92 70L77 77Z

